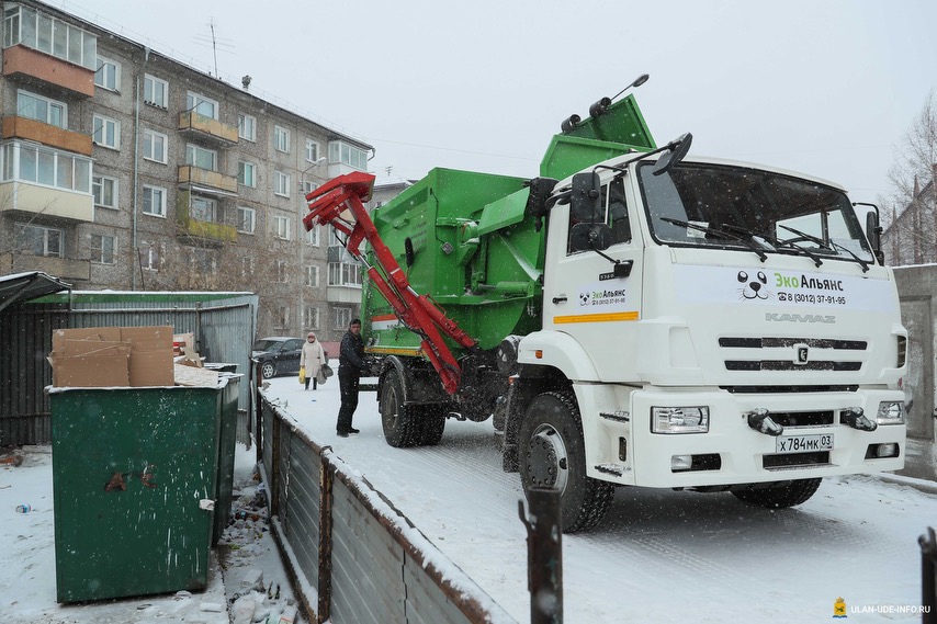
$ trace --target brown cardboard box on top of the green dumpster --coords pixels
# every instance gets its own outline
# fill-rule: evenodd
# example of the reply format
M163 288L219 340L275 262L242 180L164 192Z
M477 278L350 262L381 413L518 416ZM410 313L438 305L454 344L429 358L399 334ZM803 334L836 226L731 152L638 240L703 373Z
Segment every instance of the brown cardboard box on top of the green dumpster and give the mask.
M57 329L52 338L53 385L172 386L172 328Z

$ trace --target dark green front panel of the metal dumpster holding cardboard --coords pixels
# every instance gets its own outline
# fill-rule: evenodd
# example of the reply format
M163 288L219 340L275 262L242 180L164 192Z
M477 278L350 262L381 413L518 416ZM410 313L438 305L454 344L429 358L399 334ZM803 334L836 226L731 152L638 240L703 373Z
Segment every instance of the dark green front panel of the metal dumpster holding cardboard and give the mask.
M49 389L59 602L205 589L223 389Z

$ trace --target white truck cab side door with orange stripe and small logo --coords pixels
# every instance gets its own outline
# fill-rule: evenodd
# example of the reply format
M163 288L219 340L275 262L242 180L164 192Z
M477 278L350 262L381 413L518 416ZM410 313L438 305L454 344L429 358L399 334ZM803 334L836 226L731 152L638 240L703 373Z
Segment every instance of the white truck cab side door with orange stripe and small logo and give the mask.
M601 207L611 245L601 253L608 258L594 249L576 249L568 205L556 206L551 214L543 327L574 337L602 382L634 381L634 358L629 353L634 352L641 316L643 263L636 205L628 174L602 185ZM630 266L628 276L616 275L612 261Z

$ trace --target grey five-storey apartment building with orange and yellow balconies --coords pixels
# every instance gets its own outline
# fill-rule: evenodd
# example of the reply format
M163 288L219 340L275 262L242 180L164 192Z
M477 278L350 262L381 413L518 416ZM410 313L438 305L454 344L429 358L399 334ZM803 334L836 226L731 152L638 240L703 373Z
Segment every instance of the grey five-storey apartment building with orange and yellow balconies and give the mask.
M0 275L249 291L258 334L338 340L362 272L305 193L372 147L37 2L3 2Z

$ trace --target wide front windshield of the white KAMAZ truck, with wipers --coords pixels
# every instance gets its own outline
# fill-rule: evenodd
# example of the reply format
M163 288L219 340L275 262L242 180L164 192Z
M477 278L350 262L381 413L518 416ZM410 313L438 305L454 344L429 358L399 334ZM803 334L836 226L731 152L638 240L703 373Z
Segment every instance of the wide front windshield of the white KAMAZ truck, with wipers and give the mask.
M639 166L651 232L665 245L873 262L842 191L757 169L682 162L663 175Z

